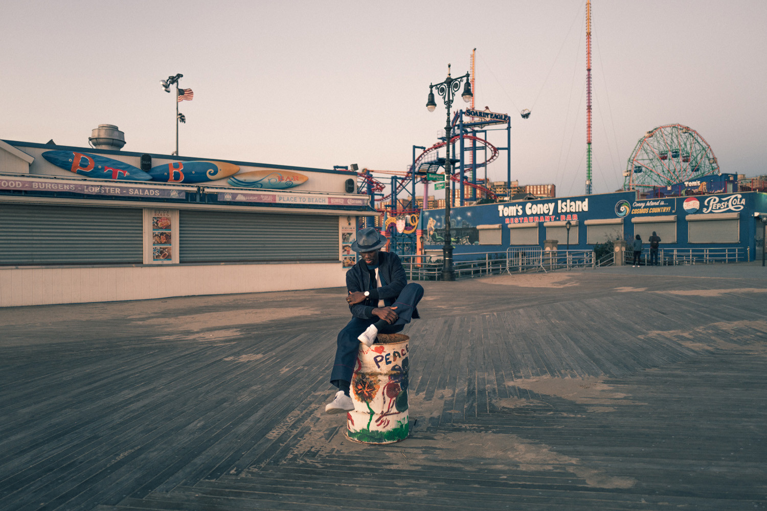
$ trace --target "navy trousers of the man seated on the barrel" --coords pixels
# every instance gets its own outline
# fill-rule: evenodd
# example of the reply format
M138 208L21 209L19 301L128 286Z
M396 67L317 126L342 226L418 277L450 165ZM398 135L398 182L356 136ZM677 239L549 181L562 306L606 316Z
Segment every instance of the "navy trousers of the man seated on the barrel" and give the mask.
M413 310L423 298L423 287L420 284L411 282L403 287L400 296L391 306L396 306L394 310L397 313L397 321L391 325L384 326L379 333L397 333L401 332L410 319L413 318ZM379 321L378 317L371 319L362 319L354 317L341 332L338 332L336 357L331 372L331 382L341 380L351 382L351 375L354 373L354 365L357 362L357 352L360 349L360 341L357 336L364 332L368 326Z

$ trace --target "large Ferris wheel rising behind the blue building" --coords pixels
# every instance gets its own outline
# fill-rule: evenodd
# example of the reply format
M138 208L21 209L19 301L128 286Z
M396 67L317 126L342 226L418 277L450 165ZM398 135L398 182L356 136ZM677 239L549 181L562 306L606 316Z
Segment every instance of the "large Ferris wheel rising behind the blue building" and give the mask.
M637 142L624 171L624 190L647 190L719 173L711 146L698 132L667 124Z

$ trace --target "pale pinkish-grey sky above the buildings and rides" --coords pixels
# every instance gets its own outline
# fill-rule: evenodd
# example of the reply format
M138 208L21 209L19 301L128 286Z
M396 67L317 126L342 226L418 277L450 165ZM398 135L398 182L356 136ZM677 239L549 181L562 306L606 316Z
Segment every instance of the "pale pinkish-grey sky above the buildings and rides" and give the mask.
M176 103L160 80L181 73L194 90L179 105L182 156L404 171L445 125L439 98L426 110L429 84L448 63L465 74L476 47L476 106L512 116L512 180L584 192L585 0L0 7L0 139L87 147L110 123L123 150L170 154ZM696 129L722 172L767 174L765 0L591 10L595 193L620 188L637 140L673 123ZM505 152L488 174L505 180Z

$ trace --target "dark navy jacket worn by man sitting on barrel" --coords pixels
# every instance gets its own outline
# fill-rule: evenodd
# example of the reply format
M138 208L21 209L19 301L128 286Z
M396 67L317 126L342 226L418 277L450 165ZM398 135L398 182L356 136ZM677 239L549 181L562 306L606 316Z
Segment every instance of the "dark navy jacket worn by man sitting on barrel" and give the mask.
M370 291L370 296L364 302L349 306L351 315L354 317L372 319L374 317L373 310L378 306L378 300L384 300L384 305L391 306L407 285L405 269L402 267L397 254L378 252L378 265L382 287ZM354 291L365 292L370 289L370 272L367 270L367 264L364 260L358 260L357 264L346 272L346 288L352 293ZM420 318L418 309L413 310L413 318Z

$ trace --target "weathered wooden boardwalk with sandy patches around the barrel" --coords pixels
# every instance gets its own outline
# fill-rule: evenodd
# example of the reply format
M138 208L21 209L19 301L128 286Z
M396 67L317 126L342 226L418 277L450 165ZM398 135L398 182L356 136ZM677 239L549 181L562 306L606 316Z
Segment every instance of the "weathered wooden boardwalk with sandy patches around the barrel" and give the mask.
M2 309L0 509L767 509L767 271L640 270L426 283L382 447L343 290Z

